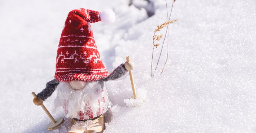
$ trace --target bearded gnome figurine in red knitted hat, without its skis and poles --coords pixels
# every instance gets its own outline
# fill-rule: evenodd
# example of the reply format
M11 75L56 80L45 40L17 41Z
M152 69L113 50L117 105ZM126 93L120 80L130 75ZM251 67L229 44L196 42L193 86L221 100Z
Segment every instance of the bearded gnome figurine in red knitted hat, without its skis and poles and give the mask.
M95 119L110 105L104 82L115 80L134 68L132 61L119 65L112 73L103 65L90 23L115 21L112 10L103 12L76 9L69 12L61 33L55 79L37 94L33 102L41 105L57 88L55 108L63 108L76 121Z

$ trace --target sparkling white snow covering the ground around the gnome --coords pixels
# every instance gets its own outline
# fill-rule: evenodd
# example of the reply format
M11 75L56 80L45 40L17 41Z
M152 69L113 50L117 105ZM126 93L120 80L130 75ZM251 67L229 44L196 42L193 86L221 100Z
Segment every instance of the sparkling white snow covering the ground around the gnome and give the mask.
M164 0L134 0L131 6L129 0L1 0L0 132L67 132L68 119L56 130L46 129L50 120L33 104L31 92L54 78L62 27L77 8L113 9L114 24L91 24L101 58L112 71L129 55L136 89L146 94L144 103L128 107L129 75L107 82L113 117L105 132L256 132L255 0L177 0L169 60L160 75L165 45L153 78L152 36L167 19ZM49 111L55 97L56 92L44 102Z

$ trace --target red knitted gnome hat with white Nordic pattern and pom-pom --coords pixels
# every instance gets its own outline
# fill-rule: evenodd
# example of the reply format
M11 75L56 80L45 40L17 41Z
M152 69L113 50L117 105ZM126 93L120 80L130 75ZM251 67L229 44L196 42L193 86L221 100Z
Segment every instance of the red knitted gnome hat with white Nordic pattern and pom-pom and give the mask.
M95 45L90 23L113 22L114 12L76 9L69 12L56 58L57 81L95 81L108 75Z

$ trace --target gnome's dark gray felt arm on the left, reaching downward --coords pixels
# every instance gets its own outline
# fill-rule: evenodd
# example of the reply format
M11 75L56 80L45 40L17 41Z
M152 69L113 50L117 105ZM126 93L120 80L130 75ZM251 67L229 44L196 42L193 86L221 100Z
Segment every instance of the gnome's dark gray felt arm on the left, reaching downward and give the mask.
M56 89L59 83L60 82L55 79L47 82L45 89L43 89L40 93L38 93L37 96L43 100L46 100L48 97L51 96L51 94L54 92L54 90Z

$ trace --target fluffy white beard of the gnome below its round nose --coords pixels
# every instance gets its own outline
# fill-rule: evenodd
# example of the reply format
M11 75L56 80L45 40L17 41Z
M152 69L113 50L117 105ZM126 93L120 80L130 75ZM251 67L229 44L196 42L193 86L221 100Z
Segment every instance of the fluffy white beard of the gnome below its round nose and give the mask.
M67 112L66 117L76 118L80 111L84 113L88 110L93 114L96 114L99 109L101 109L100 112L102 112L102 110L106 110L108 106L108 95L106 90L104 89L105 106L102 99L102 88L97 81L87 82L86 86L80 90L72 89L69 82L60 82L57 89L57 98L54 100L55 111L57 108L63 107Z

